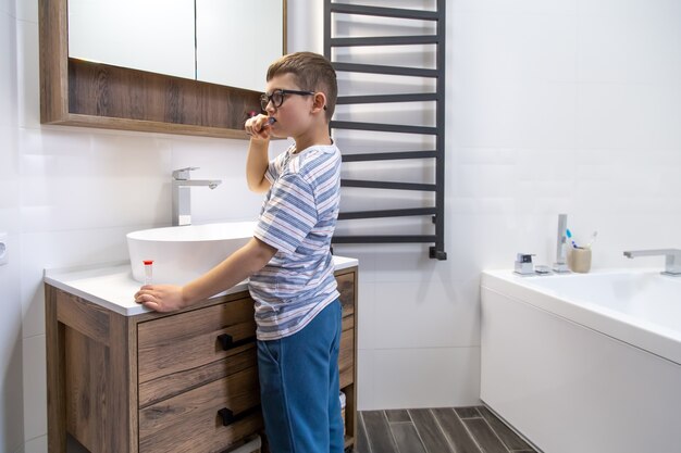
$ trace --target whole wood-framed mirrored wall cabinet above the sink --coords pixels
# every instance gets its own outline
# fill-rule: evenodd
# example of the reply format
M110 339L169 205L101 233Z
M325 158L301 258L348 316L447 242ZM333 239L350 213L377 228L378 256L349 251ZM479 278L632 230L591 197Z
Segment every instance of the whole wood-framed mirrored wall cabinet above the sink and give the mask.
M242 3L39 0L41 123L247 139L286 0Z

